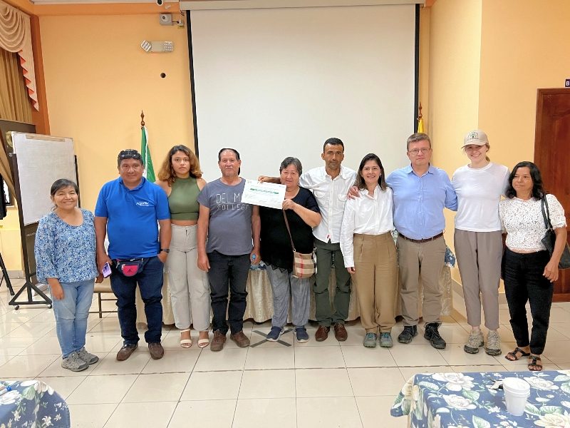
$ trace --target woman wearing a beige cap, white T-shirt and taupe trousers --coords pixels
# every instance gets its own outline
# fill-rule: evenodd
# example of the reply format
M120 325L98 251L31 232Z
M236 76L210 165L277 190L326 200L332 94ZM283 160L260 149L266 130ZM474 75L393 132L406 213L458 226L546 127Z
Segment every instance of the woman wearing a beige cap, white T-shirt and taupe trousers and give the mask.
M480 130L467 133L463 151L470 163L453 174L457 193L455 215L455 253L463 285L467 322L471 333L463 347L477 354L484 346L481 324L481 302L485 315L488 355L501 353L499 328L499 278L502 238L499 201L507 189L509 168L492 163L487 156L491 148L487 134Z

